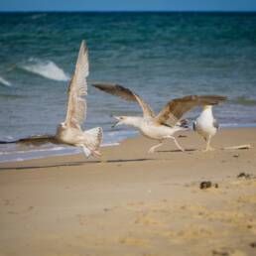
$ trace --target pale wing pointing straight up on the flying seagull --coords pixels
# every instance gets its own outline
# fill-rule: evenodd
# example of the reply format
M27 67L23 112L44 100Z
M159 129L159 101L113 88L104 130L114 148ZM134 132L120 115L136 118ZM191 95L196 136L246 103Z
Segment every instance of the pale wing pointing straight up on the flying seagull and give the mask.
M80 124L86 115L86 100L82 97L87 95L86 77L89 74L88 53L84 41L81 42L75 70L68 86L67 109L65 124L80 130Z

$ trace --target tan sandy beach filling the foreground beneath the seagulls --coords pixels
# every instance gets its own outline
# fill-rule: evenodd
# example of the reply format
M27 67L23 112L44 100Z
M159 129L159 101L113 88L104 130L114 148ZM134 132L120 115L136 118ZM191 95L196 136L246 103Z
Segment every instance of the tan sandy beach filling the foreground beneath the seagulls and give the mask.
M101 160L0 164L0 255L256 255L256 128L221 130L208 153L183 135L186 153L140 137Z

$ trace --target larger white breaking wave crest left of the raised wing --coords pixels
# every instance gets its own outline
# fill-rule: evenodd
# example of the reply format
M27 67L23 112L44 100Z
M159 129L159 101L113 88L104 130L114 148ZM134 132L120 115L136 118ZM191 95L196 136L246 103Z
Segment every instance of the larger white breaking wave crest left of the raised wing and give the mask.
M39 59L30 58L27 64L22 64L20 67L26 71L53 80L66 81L70 78L60 66L52 61L41 61Z

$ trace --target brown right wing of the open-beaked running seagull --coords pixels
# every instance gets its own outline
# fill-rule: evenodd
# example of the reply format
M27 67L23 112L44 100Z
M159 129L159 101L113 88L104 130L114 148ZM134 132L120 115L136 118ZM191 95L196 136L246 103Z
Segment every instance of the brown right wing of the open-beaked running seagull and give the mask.
M169 124L174 126L182 116L193 107L199 105L216 105L224 100L226 100L226 97L219 95L189 95L183 98L176 98L167 103L162 111L160 111L155 121L158 124Z

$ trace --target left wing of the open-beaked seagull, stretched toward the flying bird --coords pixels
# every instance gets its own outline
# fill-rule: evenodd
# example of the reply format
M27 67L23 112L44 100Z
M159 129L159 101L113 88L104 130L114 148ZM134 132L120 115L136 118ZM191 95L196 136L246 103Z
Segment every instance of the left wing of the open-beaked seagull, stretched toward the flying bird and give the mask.
M127 101L137 101L142 108L144 117L154 117L155 114L150 106L136 93L119 84L93 82L92 85L100 90L119 96Z

